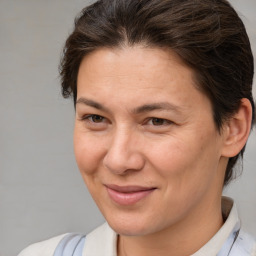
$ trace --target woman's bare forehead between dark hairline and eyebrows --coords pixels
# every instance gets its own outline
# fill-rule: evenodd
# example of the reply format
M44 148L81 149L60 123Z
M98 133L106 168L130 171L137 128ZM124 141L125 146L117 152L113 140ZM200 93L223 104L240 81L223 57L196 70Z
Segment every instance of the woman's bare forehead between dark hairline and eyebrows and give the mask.
M203 95L194 71L173 51L143 46L102 48L85 56L78 72L78 98L88 96L106 104L170 101L191 107ZM111 99L111 101L110 101Z

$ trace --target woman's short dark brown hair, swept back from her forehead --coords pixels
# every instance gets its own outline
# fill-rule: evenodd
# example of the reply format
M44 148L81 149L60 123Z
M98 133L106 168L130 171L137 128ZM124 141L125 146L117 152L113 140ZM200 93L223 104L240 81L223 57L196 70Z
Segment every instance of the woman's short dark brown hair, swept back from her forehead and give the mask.
M219 132L242 98L250 100L254 113L250 42L226 0L99 0L86 7L64 47L63 96L73 95L76 102L78 69L86 54L136 44L172 49L194 70L198 88L211 100ZM244 149L229 159L224 185Z

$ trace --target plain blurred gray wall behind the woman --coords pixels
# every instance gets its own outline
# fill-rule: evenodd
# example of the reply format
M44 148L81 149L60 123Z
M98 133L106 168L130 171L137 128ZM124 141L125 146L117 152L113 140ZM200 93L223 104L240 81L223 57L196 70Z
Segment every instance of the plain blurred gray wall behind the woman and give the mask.
M256 55L256 1L232 0ZM60 95L58 62L81 0L0 0L0 256L103 218L80 178L74 111ZM254 95L256 95L254 88ZM225 191L256 235L256 136L244 174Z

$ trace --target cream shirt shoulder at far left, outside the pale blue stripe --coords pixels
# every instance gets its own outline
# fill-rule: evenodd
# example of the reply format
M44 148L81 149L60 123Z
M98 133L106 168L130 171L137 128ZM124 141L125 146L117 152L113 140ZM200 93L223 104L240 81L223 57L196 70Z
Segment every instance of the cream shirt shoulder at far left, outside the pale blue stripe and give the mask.
M25 248L18 256L49 256L53 255L58 243L66 234L32 244Z

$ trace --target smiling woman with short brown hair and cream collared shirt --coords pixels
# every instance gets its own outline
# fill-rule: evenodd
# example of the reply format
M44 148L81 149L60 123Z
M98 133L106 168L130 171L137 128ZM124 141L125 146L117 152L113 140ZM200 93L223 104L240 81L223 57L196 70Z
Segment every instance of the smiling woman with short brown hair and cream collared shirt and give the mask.
M226 0L102 0L66 41L81 175L107 223L20 256L256 255L222 198L254 117L253 56Z

